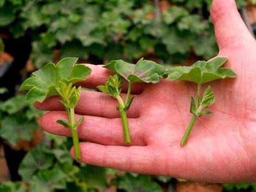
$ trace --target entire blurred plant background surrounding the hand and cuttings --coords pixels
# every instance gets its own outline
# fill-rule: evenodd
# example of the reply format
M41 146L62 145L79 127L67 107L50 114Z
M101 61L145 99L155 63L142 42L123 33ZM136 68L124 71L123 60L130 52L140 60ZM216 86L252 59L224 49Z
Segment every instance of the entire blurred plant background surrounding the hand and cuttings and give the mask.
M251 183L205 184L80 164L69 155L70 139L42 131L37 120L44 112L17 91L33 71L68 56L94 64L209 59L218 53L211 2L0 0L0 191L256 191ZM236 2L253 33L256 1Z

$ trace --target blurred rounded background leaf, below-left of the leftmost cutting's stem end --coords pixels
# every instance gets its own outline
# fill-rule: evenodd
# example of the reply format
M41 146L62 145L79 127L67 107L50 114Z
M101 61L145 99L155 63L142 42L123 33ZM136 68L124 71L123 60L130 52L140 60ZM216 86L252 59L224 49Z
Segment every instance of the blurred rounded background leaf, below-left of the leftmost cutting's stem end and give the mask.
M43 144L33 148L23 159L18 173L25 182L31 182L33 175L53 165L54 155L47 152Z

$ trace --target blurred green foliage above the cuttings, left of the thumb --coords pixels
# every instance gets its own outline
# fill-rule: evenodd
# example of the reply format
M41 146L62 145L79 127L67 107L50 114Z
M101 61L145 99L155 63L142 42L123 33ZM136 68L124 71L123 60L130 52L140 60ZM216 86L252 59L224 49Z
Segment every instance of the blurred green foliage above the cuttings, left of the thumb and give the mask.
M0 27L14 38L31 36L31 58L38 68L52 61L53 50L60 58L102 61L154 55L169 64L191 55L216 55L208 15L212 0L167 2L170 8L156 17L159 9L152 0L1 0ZM246 0L237 4L241 8Z

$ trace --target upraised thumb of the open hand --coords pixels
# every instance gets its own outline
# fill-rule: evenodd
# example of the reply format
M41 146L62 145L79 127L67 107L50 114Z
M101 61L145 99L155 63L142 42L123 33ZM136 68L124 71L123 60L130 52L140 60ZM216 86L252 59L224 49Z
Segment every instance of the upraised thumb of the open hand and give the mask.
M210 15L220 50L243 48L254 42L234 0L214 0Z

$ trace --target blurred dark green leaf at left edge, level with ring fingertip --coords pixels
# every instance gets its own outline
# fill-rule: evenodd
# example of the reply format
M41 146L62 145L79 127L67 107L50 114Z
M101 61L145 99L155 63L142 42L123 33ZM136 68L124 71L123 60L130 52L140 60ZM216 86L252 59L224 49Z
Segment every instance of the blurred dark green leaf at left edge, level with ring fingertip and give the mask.
M9 144L16 145L20 139L30 141L37 129L35 121L7 116L1 122L0 136Z

